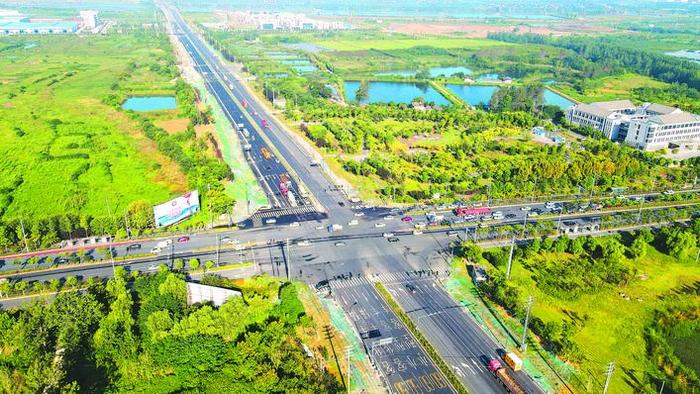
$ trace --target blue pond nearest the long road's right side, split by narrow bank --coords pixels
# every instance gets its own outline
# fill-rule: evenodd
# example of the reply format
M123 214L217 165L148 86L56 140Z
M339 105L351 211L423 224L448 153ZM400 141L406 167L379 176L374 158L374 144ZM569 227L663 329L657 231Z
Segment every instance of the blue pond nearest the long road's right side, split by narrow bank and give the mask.
M360 87L359 81L345 81L345 100L355 102L355 92ZM370 82L366 103L405 103L409 104L416 97L423 97L428 102L449 105L450 102L427 83L410 82Z

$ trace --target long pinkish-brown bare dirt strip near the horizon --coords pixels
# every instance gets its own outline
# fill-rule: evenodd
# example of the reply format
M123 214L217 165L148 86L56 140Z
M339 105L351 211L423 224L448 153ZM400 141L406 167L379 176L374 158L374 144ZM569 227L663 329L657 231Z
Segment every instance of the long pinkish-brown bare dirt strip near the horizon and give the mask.
M528 26L514 24L494 26L486 24L445 24L445 23L392 23L384 29L385 32L425 35L460 35L470 38L485 38L488 33L535 33L542 35L562 36L581 32L603 32L611 29L582 24L560 25L556 27Z

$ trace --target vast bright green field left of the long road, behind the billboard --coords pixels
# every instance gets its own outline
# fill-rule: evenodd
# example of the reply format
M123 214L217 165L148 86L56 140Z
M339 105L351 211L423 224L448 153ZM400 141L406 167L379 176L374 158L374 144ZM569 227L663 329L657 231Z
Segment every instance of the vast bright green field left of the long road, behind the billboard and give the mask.
M103 104L114 91L172 92L167 41L155 36L0 39L0 211L4 219L119 213L186 188L178 166L126 114ZM129 64L132 63L130 68Z

